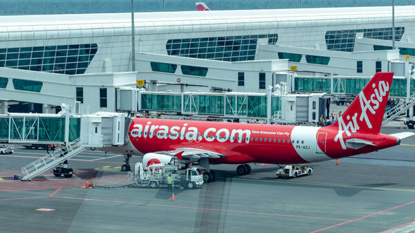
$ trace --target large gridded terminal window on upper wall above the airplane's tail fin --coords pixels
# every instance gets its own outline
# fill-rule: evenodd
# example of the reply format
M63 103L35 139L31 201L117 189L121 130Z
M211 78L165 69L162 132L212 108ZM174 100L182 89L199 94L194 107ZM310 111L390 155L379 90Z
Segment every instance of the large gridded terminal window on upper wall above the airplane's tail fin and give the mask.
M353 30L331 30L325 35L328 50L353 52L356 33L363 32L369 39L392 40L392 28L366 28ZM405 32L404 27L395 27L395 40L400 41Z

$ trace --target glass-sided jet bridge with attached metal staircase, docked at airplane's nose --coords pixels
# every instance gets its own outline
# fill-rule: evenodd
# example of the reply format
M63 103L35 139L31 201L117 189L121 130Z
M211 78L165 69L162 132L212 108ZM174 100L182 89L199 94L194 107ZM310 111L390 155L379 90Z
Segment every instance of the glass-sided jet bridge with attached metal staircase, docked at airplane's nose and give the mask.
M76 156L86 147L125 144L131 118L125 113L72 114L62 105L58 114L8 113L0 116L0 140L10 144L60 144L52 153L21 169L22 180L30 180Z

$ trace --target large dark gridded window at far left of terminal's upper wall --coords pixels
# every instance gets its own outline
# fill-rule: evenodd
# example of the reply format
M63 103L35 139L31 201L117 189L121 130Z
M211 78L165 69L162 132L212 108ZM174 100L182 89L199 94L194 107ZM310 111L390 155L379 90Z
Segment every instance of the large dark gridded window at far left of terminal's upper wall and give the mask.
M97 44L1 48L0 67L66 75L82 74L97 50Z

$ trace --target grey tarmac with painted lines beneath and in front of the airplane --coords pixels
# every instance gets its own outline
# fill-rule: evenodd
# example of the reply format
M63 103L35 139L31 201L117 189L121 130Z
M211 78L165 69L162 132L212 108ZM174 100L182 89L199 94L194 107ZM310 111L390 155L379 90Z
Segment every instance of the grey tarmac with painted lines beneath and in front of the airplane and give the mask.
M414 130L382 129L400 131ZM340 165L311 164L311 176L295 179L275 178L277 165L251 164L246 176L214 165L216 182L176 189L175 201L166 189L123 187L123 157L102 151L69 160L72 178L13 180L46 154L15 148L0 155L1 232L415 232L414 136Z

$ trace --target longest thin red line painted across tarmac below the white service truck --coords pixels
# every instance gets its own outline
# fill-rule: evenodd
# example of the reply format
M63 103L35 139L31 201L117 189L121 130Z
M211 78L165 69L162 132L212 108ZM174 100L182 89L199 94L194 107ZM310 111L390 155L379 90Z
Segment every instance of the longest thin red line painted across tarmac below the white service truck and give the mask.
M72 198L72 197L66 197L66 196L53 196L53 198L66 198L66 199L76 199L76 200L83 200L83 201L102 201L102 202L107 202L107 203L124 203L124 204L132 204L132 205L149 205L149 206L158 206L158 207L174 207L174 208L181 208L181 209L203 209L203 210L242 213L242 214L262 214L262 215L287 216L287 217L296 217L296 218L317 218L317 219L324 219L324 220L347 221L347 219L339 219L339 218L323 218L323 217L298 216L298 215L289 215L289 214L247 212L247 211L238 211L238 210L229 210L229 209L209 209L209 208L200 208L200 207L186 207L186 206L180 206L180 205L158 205L158 204L150 204L150 203L130 203L130 202L126 202L126 201L109 201L109 200L97 200L97 199L89 199L89 198Z

